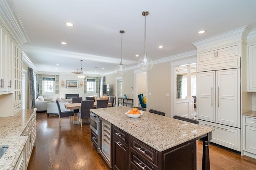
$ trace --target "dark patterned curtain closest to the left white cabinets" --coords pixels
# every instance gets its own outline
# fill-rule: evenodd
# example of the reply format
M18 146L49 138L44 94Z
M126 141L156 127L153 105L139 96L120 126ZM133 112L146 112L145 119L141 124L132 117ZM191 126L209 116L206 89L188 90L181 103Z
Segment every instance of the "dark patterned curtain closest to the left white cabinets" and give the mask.
M35 88L34 88L34 73L32 68L28 68L28 108L35 108Z

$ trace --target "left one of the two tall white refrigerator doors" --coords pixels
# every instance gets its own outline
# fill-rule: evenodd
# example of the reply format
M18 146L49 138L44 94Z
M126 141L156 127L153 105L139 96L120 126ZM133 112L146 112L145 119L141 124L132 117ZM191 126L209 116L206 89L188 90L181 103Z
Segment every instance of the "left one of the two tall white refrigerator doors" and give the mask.
M215 122L215 71L198 72L197 118Z

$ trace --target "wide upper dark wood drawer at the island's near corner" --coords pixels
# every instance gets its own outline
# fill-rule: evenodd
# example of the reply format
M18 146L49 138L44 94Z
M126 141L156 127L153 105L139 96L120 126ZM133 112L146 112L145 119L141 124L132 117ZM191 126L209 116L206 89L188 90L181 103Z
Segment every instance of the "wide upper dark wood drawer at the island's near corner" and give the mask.
M142 142L138 141L134 137L131 137L131 149L139 155L143 156L149 162L157 165L157 151L151 147L146 146Z

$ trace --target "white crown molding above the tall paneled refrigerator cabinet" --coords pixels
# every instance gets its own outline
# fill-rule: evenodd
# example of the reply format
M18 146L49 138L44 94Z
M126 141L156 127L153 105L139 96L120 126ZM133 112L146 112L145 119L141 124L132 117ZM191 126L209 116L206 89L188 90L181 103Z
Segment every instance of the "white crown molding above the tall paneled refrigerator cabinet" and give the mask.
M214 46L216 44L219 45L220 43L246 43L247 36L251 29L249 25L245 25L207 39L193 42L192 44L196 46L198 50L201 50L205 47Z

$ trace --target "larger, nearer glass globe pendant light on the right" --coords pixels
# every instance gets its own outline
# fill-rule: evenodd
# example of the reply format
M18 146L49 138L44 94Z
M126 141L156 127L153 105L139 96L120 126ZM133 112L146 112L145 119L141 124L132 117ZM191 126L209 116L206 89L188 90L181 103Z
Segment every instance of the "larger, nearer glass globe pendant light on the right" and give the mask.
M144 57L141 57L138 61L138 67L140 70L150 70L153 67L153 61L150 57L147 57L146 54L146 16L148 11L143 11L142 15L145 16L145 32L144 32Z

